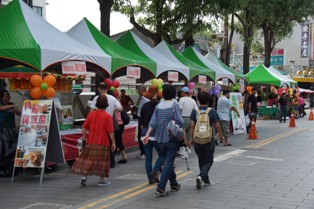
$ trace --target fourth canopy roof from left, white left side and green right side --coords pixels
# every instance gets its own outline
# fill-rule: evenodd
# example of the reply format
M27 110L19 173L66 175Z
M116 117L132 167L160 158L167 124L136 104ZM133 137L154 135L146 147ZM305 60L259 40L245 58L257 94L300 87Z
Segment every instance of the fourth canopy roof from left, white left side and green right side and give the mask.
M211 80L215 80L215 72L207 67L200 66L195 62L187 59L182 54L180 54L177 50L175 50L172 46L170 46L166 41L160 42L155 49L166 56L168 59L173 62L180 62L183 65L190 68L190 78L189 80L195 79L198 75L208 76Z

